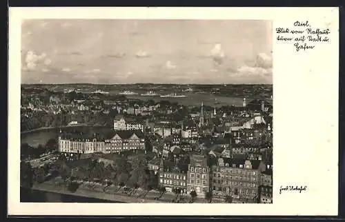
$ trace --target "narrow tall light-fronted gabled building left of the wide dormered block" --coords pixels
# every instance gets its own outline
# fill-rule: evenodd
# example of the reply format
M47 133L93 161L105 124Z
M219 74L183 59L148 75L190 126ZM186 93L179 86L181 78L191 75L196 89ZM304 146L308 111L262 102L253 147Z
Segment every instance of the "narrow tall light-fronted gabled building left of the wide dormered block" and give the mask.
M187 173L187 192L195 190L198 196L204 197L210 191L210 169L203 155L193 154L190 157Z

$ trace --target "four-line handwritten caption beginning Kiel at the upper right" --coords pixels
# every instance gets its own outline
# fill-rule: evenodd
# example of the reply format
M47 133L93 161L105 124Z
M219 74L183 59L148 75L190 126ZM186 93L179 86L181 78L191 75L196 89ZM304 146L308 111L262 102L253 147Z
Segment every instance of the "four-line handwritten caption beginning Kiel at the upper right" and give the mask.
M276 28L277 41L291 43L296 52L313 50L317 44L329 43L329 28L313 28L308 21L295 21L293 28Z

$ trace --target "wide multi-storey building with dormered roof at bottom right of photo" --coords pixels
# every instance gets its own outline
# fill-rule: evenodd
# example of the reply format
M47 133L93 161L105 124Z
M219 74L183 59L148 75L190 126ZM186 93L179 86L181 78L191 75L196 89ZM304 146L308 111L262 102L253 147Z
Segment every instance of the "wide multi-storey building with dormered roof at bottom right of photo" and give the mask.
M266 170L262 161L219 158L213 165L212 187L216 199L233 196L237 203L257 203L261 172Z

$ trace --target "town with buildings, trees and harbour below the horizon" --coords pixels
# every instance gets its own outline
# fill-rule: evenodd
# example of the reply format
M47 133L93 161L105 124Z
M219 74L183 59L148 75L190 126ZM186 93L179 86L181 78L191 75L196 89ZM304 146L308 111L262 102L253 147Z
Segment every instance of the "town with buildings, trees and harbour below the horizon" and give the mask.
M21 85L21 201L273 203L272 185L272 85Z

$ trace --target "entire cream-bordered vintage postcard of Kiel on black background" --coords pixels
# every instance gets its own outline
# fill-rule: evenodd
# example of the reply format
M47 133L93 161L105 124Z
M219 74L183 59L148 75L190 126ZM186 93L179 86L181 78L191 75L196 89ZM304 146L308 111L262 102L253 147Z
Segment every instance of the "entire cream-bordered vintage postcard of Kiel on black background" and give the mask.
M337 215L338 8L9 12L9 215Z

